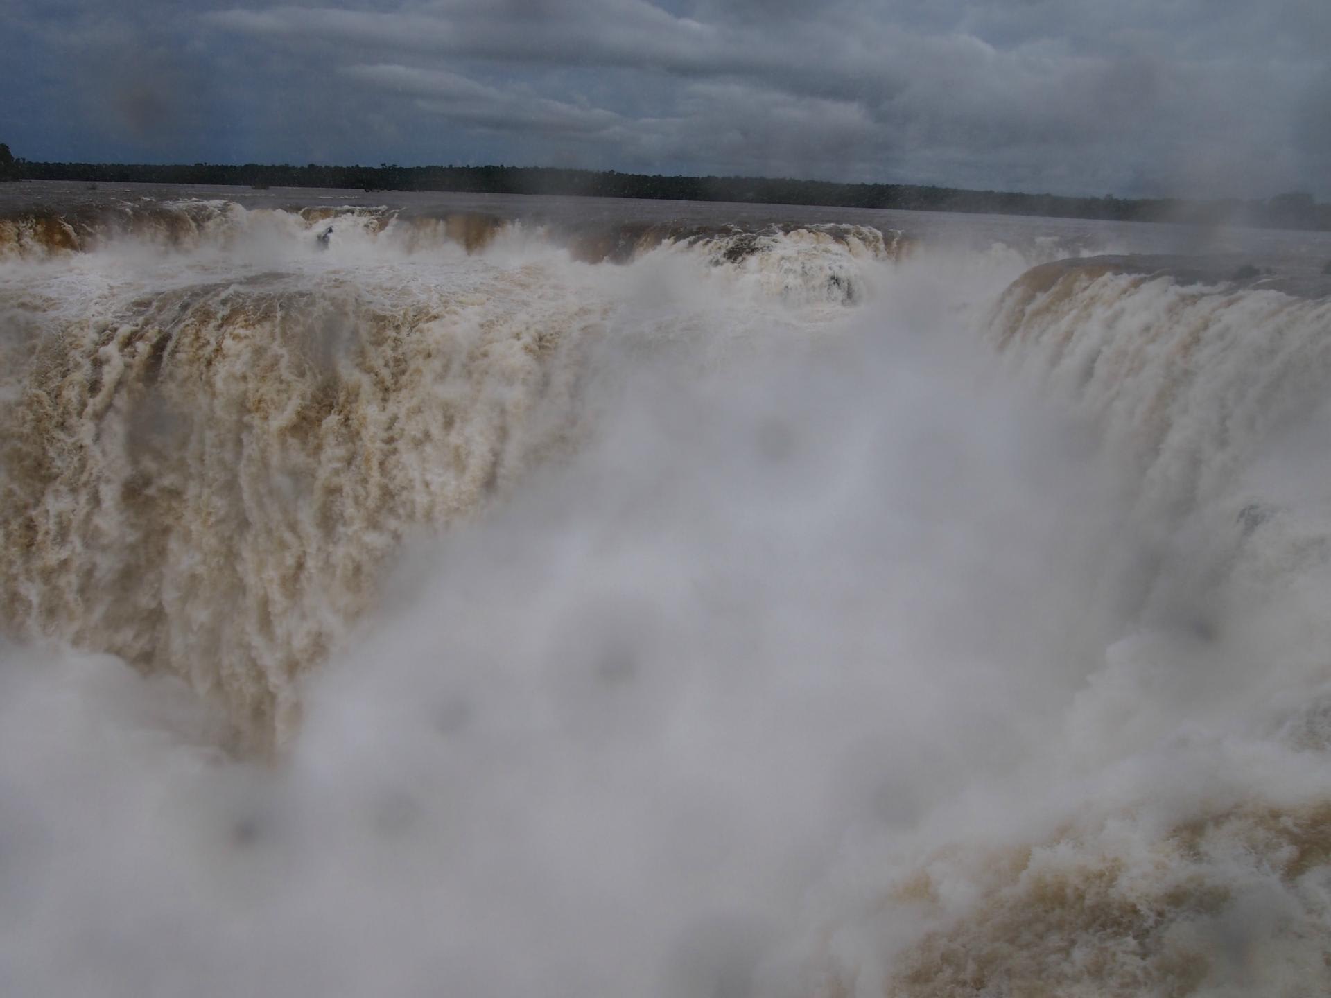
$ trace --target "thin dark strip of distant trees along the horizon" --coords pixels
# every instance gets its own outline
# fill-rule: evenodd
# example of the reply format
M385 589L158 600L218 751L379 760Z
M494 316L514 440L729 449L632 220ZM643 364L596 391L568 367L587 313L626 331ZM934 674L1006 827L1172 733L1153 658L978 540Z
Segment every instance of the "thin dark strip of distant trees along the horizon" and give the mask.
M28 180L142 184L218 184L252 188L353 188L362 190L453 190L486 194L566 194L671 201L739 201L776 205L886 208L922 212L1038 214L1114 221L1202 222L1331 230L1331 205L1311 194L1264 201L1236 198L1063 197L909 184L835 184L768 177L663 177L548 166L287 166L28 162L15 168Z

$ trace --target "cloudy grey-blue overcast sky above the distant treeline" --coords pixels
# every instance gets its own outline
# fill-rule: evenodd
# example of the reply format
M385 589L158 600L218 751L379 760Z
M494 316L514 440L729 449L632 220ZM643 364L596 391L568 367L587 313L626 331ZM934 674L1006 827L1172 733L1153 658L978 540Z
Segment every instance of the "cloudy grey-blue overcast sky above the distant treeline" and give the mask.
M33 160L1331 196L1331 0L0 0Z

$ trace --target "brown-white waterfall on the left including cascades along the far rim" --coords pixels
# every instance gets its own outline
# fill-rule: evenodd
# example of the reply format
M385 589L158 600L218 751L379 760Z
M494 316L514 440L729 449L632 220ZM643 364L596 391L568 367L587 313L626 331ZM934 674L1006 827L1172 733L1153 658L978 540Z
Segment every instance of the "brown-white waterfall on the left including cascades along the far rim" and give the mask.
M295 679L371 605L405 534L574 443L615 295L524 246L544 233L484 216L166 204L97 222L8 222L24 259L170 253L128 273L96 257L24 271L7 295L7 621L180 673L246 741L282 737ZM761 297L835 305L896 233L630 238ZM496 240L507 266L469 263Z

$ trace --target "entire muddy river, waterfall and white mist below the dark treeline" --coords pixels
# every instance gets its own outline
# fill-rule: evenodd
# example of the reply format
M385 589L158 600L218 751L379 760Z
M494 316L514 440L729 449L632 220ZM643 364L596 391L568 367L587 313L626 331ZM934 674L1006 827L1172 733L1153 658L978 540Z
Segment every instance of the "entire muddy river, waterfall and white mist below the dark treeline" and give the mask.
M4 994L1331 991L1327 237L41 192Z

